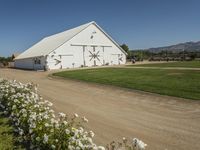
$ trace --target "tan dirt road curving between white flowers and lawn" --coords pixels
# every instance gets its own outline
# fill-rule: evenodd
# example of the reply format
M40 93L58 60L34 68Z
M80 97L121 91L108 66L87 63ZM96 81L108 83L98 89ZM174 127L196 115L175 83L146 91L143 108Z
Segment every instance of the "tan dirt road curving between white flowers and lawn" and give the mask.
M200 149L200 101L52 79L47 75L0 69L0 77L38 83L40 93L54 103L56 111L86 116L98 144L138 137L148 144L149 150Z

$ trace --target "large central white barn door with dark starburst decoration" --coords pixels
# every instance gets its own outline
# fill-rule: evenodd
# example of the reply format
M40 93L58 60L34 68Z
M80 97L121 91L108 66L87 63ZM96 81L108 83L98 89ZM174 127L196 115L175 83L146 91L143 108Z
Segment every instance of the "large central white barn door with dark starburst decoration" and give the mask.
M88 46L85 48L85 65L101 66L103 65L103 49L102 47Z

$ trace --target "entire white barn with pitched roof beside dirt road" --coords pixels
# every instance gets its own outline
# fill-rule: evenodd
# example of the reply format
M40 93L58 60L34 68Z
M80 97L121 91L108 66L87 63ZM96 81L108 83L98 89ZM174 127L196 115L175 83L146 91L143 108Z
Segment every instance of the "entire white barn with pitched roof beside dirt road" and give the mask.
M15 58L23 69L62 69L126 63L126 52L95 22L45 37Z

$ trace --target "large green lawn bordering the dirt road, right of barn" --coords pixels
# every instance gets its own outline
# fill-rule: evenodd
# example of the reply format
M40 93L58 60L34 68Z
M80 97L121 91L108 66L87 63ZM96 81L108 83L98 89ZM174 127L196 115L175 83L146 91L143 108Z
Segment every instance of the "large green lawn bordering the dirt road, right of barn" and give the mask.
M200 71L140 68L101 68L64 71L53 75L200 100Z

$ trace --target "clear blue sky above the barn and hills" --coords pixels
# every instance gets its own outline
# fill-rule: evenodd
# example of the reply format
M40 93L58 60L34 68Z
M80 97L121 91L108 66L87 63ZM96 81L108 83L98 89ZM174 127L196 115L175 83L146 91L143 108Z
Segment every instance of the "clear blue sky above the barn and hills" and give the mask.
M0 56L90 21L131 49L200 41L200 0L0 0Z

